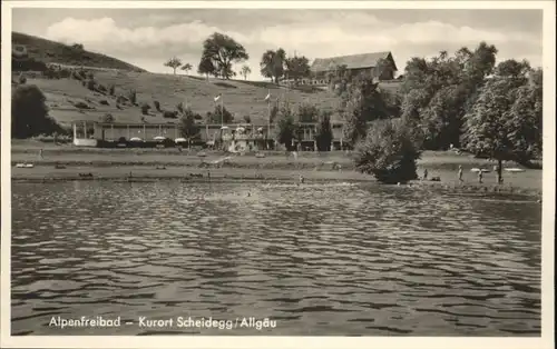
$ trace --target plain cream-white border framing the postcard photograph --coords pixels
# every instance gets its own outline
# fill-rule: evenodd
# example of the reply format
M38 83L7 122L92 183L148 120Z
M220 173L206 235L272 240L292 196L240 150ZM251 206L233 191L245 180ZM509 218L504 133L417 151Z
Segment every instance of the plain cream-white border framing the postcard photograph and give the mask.
M252 9L543 9L544 170L541 337L188 337L10 336L11 9L12 8L252 8ZM555 1L2 1L1 317L0 348L554 348Z

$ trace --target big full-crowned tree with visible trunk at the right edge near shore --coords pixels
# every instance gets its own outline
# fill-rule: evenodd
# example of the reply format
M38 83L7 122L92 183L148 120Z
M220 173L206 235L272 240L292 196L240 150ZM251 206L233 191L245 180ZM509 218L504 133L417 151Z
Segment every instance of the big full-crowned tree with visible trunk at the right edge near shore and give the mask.
M477 156L527 164L541 148L541 78L531 79L526 63L505 61L481 88L465 114L465 147ZM528 77L530 76L530 78Z

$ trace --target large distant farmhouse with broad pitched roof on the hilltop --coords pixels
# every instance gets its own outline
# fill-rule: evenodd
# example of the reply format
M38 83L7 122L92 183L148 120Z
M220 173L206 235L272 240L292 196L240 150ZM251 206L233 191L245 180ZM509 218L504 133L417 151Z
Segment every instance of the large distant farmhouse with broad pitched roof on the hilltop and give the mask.
M380 64L380 62L382 63ZM390 51L317 58L311 67L313 79L306 82L310 84L326 84L328 73L341 66L345 66L353 76L369 71L380 81L393 80L398 70Z

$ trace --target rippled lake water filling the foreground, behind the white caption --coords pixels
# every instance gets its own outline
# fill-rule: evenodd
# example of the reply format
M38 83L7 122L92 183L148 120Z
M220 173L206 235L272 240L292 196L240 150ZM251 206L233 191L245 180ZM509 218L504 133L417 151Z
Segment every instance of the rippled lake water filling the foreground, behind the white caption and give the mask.
M12 335L539 336L540 209L369 183L13 182ZM48 326L82 316L134 325Z

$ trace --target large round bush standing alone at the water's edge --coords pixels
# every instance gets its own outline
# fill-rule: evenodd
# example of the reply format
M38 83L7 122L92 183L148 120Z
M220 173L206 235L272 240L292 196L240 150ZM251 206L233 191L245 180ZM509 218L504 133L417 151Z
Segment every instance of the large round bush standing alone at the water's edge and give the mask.
M420 157L411 128L401 120L375 121L356 147L355 168L385 183L417 179L416 160Z

